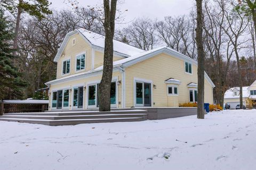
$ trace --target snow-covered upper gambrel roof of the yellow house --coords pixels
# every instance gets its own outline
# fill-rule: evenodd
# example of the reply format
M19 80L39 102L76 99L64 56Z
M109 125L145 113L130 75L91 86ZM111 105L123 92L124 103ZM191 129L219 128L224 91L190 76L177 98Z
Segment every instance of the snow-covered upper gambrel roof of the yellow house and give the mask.
M62 54L64 48L66 47L68 43L68 39L70 36L73 36L75 33L79 33L84 40L90 44L90 46L95 49L95 50L101 50L102 52L104 51L105 47L105 36L100 35L99 33L95 33L83 28L76 29L74 31L71 31L67 33L66 37L64 38L60 49L58 50L57 55L54 58L54 62L58 62L60 55ZM145 50L142 50L140 48L122 43L121 41L118 40L113 40L113 46L114 46L114 54L118 56L123 56L123 57L129 57L141 52L145 52Z

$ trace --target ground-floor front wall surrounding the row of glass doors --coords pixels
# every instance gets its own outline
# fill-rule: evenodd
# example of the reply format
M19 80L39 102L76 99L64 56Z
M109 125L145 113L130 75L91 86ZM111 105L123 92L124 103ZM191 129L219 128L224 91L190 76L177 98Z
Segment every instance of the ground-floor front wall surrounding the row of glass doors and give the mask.
M63 83L59 83L59 84L54 84L51 85L50 87L50 91L51 91L51 95L49 97L49 110L52 109L52 91L53 90L61 90L61 89L73 89L73 87L76 87L77 85L79 86L84 86L86 87L86 89L84 89L84 100L83 100L83 105L84 105L84 109L87 108L87 84L89 84L90 82L95 82L95 81L99 81L101 80L101 76L102 74L99 74L97 76L94 77L90 77L90 78L85 78L85 79L79 79L79 80L73 80L73 81L68 81L68 82L63 82ZM120 72L114 72L113 73L113 78L117 78L117 81L121 80L122 81L122 73ZM119 86L117 86L117 106L118 108L122 107L122 86L121 84ZM69 91L69 109L72 109L72 103L73 103L73 90Z

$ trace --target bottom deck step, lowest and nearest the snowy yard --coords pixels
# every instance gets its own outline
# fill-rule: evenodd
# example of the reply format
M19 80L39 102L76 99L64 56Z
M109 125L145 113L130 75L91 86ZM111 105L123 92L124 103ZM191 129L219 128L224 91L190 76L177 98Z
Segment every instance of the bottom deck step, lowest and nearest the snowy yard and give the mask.
M44 119L2 118L2 117L0 117L0 121L44 124L44 125L50 125L50 126L76 125L76 124L82 124L82 123L134 122L134 121L144 121L144 120L145 120L145 118L142 118L142 117L91 118L91 119L76 119L76 120L70 120L70 119L69 120L44 120Z

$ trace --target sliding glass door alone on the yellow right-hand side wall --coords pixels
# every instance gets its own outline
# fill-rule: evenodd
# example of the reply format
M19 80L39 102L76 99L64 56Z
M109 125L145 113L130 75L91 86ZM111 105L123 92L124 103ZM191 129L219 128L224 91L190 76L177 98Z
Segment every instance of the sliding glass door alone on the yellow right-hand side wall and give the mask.
M151 83L135 82L135 106L151 106Z

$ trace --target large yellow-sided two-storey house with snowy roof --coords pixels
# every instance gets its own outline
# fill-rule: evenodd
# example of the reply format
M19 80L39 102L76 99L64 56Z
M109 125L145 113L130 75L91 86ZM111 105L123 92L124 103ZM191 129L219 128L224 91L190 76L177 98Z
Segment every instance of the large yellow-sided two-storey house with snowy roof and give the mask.
M114 41L111 107L178 107L197 101L197 62L171 48L149 51ZM85 29L69 32L54 58L57 79L49 88L49 109L97 108L105 36ZM205 102L214 84L205 73Z

